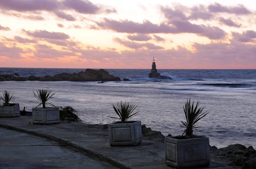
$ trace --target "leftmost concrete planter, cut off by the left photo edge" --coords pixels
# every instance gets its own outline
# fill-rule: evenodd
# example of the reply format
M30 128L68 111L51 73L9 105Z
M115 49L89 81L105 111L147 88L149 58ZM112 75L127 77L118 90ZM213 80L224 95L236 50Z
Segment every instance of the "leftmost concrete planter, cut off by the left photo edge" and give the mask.
M11 106L0 106L0 117L19 117L20 104L14 103Z

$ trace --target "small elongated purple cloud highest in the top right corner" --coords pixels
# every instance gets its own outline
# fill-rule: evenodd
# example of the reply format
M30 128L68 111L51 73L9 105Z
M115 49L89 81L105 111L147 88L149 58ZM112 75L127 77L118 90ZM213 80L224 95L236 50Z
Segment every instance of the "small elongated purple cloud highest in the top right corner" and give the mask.
M247 15L252 13L252 11L250 11L243 5L222 6L219 3L214 3L212 5L209 5L208 9L210 12L213 12L213 13L230 13L230 14L237 14L237 15Z

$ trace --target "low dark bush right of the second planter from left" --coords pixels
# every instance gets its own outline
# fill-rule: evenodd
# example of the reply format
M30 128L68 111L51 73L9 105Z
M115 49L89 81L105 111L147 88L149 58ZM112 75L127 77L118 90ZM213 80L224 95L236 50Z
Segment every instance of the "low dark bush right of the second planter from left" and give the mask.
M78 115L76 115L75 109L70 106L67 107L59 107L60 108L60 120L61 121L79 121L83 122Z

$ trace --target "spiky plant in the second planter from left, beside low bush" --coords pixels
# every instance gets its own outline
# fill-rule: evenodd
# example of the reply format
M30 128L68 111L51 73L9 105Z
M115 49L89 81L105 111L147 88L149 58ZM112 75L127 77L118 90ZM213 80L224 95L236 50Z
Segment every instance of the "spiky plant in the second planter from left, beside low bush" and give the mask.
M38 90L36 90L36 93L34 91L33 91L33 93L34 93L35 98L40 101L40 104L38 104L36 106L36 108L41 105L43 105L43 108L46 108L46 106L55 107L55 105L53 105L51 103L47 103L47 101L52 99L53 98L52 96L55 94L55 93L52 93L52 90L38 89Z

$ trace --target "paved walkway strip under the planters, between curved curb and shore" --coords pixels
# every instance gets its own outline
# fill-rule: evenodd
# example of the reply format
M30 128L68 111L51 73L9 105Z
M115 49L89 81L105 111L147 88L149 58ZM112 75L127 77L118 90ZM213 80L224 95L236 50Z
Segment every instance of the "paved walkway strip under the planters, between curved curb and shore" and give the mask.
M111 147L108 142L108 130L101 125L79 122L32 125L31 116L20 116L0 118L0 127L26 132L72 146L121 169L172 169L165 163L164 144L143 139L138 146ZM209 167L200 169L235 168L211 161Z

